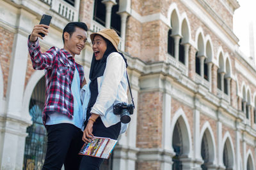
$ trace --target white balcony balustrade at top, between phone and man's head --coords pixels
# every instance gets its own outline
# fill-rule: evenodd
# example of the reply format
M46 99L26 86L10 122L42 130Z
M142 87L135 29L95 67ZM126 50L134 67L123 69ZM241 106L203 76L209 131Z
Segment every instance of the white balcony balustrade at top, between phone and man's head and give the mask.
M66 3L63 0L40 0L51 6L51 10L56 11L62 17L67 18L70 21L78 19L78 10L71 4Z

